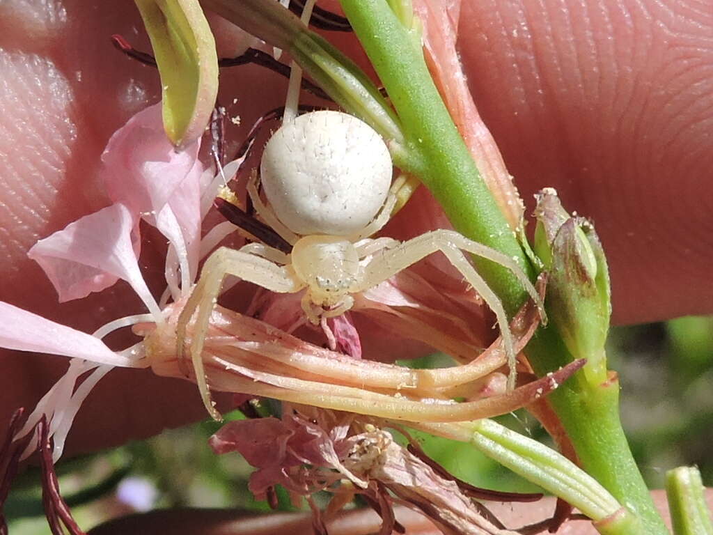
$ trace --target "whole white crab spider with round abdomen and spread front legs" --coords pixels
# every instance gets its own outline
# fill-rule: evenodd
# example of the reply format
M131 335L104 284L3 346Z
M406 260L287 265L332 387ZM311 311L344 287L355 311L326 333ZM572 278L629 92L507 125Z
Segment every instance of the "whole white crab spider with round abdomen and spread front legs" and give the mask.
M378 133L338 111L306 113L285 123L265 146L260 164L267 204L257 193L256 175L247 190L258 215L292 245L292 253L250 243L219 248L180 314L177 354L183 353L188 323L196 314L190 355L208 412L210 402L201 352L212 308L226 275L272 292L306 290L302 308L310 322L342 315L352 294L374 287L431 253L440 251L496 315L514 380L515 352L508 317L495 293L463 251L508 267L539 302L523 270L506 255L453 230L434 230L406 242L369 238L386 224L403 180L391 184L393 166Z

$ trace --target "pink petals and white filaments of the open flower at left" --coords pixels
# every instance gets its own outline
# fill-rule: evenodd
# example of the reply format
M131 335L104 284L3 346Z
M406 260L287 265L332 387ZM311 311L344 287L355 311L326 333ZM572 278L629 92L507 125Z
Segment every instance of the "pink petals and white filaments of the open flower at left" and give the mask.
M139 150L135 150L137 142ZM199 146L200 140L175 151L165 138L160 106L141 111L111 138L103 154L101 178L114 203L40 240L28 253L43 267L60 301L86 297L122 279L144 302L148 315L120 318L88 335L0 302L2 347L71 357L66 374L16 433L16 438L24 437L46 417L55 460L94 384L114 366L148 366L141 360L140 345L114 352L101 342L113 330L138 320L163 322L163 312L138 266L140 220L158 228L170 243L166 279L173 295L178 298L190 289L198 266L200 220L207 211L200 210L200 192L209 181L197 160ZM176 273L184 279L180 289ZM31 441L24 457L34 450L34 444Z

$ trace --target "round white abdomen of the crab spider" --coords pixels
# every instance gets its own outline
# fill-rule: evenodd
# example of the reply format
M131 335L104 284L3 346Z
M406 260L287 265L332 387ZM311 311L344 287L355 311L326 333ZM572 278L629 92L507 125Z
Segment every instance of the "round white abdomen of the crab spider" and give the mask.
M284 225L301 235L348 235L371 221L391 185L386 143L339 111L305 113L265 146L262 185Z

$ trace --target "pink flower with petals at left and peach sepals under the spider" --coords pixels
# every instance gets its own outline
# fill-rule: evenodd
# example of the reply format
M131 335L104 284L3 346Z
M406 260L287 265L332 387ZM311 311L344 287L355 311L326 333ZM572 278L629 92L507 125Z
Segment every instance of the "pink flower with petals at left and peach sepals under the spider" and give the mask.
M135 139L140 149L134 150ZM197 160L198 141L177 152L166 140L158 106L138 113L108 143L103 155L103 179L114 204L86 215L64 230L40 240L30 251L46 270L61 300L76 299L103 290L116 280L127 281L143 300L148 314L120 318L100 327L93 335L58 325L12 305L0 303L5 327L0 343L17 350L33 350L71 357L66 374L39 402L20 438L30 432L45 415L54 437L55 459L82 400L111 366L153 367L158 374L185 377L185 365L175 357L175 321L183 299L195 279L198 260L227 233L222 225L201 239L201 221L215 196L219 175L206 173ZM234 172L237 163L227 166ZM151 295L138 267L140 227L143 220L158 228L170 244L165 277L167 292L160 302ZM427 266L433 270L438 267ZM180 279L180 280L179 280ZM446 351L466 365L445 370L408 370L394 365L344 357L303 342L282 330L251 317L217 308L212 317L205 346L206 367L215 389L271 396L319 407L352 410L398 419L446 421L486 417L513 410L532 395L533 389L517 394L493 392L493 382L482 389L483 377L505 362L497 347L480 352L483 338L476 334L481 316L480 302L472 293L457 291L448 277L433 277L443 283L435 287L407 270L392 280L356 296L354 315L362 315L391 337L403 337ZM294 320L297 303L280 305L277 298L262 292L265 305L252 307L269 323L285 327L284 317ZM257 301L261 297L256 297ZM287 300L299 298L290 295ZM168 300L173 304L166 306ZM256 302L257 302L256 301ZM283 306L284 305L284 306ZM293 306L294 305L294 306ZM463 317L475 316L465 321ZM359 357L360 340L356 324L348 316L325 328L334 332L334 342L353 357ZM113 352L101 339L113 330L135 327L145 342L123 352ZM518 346L528 340L536 319L523 311L513 325ZM359 326L361 328L361 326ZM363 327L364 331L369 327ZM38 337L36 332L53 333ZM367 339L370 340L370 339ZM369 348L374 352L374 348ZM256 358L257 357L257 358ZM391 360L394 355L383 355ZM91 372L77 385L84 374ZM496 376L494 376L496 377ZM481 387L477 385L481 384ZM463 394L473 401L456 403ZM543 384L545 392L549 388ZM475 389L473 389L475 388ZM488 399L478 397L488 392ZM530 394L523 395L524 392ZM493 395L496 394L496 395ZM430 400L424 409L423 400ZM29 454L31 447L25 452Z

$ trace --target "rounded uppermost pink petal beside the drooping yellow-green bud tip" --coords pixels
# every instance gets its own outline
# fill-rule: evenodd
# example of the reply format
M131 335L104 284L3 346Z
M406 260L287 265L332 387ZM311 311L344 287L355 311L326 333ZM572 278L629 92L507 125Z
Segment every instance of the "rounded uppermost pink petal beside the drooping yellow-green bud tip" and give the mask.
M111 136L101 157L109 197L133 214L158 214L193 170L199 148L200 140L181 150L168 141L160 103L140 111Z

